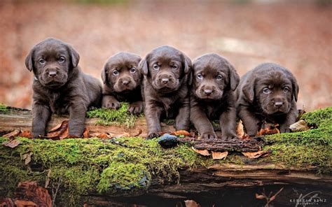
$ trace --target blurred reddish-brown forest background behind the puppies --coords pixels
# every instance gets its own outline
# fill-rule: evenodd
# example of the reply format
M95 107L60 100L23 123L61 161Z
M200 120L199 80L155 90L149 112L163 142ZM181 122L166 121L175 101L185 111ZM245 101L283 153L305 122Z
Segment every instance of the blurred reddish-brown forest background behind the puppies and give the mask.
M240 76L262 62L281 64L298 80L299 108L332 105L329 0L1 0L0 29L0 103L9 106L31 108L25 56L50 36L71 43L83 71L99 79L116 52L144 57L167 44L191 59L217 52Z

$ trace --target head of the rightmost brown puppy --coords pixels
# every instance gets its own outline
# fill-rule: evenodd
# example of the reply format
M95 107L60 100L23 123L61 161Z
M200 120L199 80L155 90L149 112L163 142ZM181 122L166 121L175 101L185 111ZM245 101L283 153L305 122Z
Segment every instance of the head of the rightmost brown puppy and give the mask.
M289 113L293 99L298 100L298 84L293 74L277 64L261 64L242 88L249 101L256 99L263 112Z

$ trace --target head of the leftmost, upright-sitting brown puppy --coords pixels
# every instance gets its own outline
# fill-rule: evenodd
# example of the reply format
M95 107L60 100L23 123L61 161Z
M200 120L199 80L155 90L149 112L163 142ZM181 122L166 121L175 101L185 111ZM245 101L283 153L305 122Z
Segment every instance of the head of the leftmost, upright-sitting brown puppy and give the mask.
M25 59L25 66L34 71L41 85L52 89L67 83L79 59L76 50L67 43L47 38L32 48Z

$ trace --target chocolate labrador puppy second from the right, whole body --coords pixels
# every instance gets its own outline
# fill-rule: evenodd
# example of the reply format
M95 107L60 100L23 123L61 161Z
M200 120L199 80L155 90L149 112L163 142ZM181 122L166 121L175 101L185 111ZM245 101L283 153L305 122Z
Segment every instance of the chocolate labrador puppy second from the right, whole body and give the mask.
M193 62L191 122L202 138L216 138L210 120L218 119L221 138L236 138L235 89L240 78L227 59L211 53Z

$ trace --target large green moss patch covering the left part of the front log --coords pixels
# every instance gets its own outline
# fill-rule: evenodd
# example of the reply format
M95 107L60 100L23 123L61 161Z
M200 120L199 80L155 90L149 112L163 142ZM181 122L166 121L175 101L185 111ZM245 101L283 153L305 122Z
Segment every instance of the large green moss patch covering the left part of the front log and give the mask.
M18 138L16 148L6 148L0 138L0 171L4 175L0 194L11 195L18 182L36 180L43 186L50 173L50 192L60 183L58 204L77 204L88 192L101 194L132 194L145 191L150 183L178 183L179 169L188 166L208 166L212 159L193 152L187 145L162 149L157 139L116 138L103 140L66 139L62 141ZM23 155L32 152L32 162L39 172L25 166ZM69 203L68 203L69 201Z

